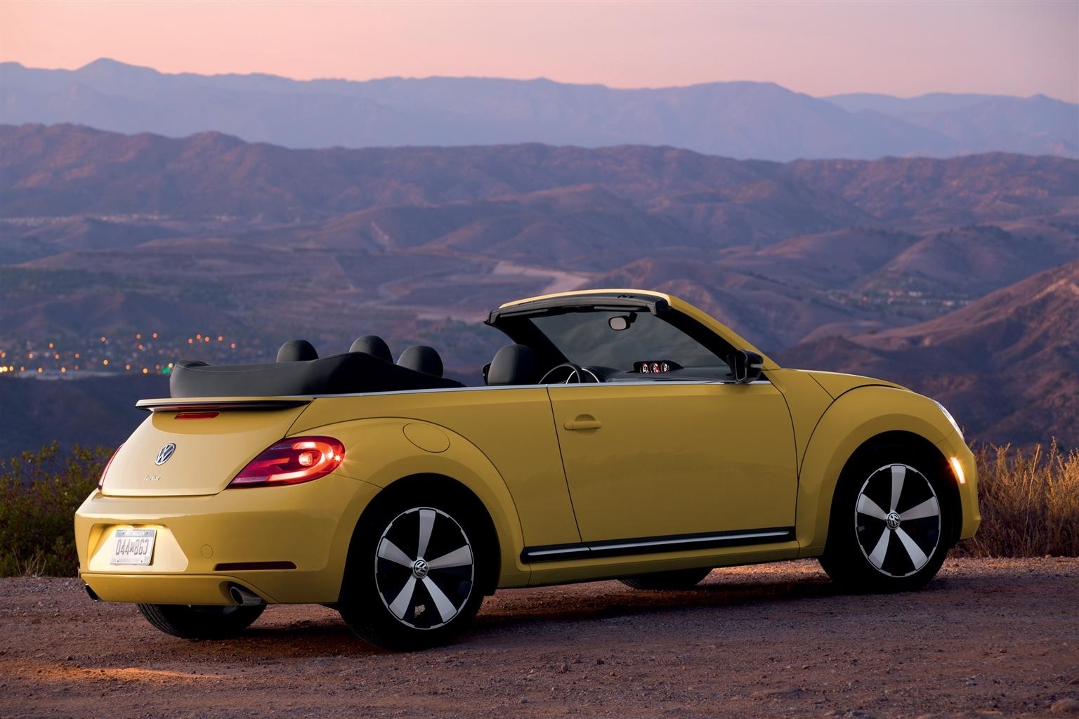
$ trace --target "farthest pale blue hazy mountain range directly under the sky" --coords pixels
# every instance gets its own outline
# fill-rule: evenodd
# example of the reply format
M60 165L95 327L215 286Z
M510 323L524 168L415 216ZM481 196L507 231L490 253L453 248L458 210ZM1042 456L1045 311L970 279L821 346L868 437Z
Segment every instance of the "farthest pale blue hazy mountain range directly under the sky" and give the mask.
M735 158L1079 155L1079 106L1041 95L815 98L774 83L614 89L549 80L296 81L167 74L110 59L78 70L0 65L4 123L78 123L288 148L541 142L648 144Z

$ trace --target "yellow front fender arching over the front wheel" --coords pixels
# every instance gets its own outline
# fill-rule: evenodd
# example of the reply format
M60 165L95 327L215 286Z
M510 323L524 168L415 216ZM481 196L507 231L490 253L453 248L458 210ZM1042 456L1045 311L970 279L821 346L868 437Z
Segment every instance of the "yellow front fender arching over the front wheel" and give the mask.
M824 412L809 438L798 478L798 556L824 551L832 495L850 456L868 440L894 431L917 434L934 445L955 432L935 402L898 387L851 389Z

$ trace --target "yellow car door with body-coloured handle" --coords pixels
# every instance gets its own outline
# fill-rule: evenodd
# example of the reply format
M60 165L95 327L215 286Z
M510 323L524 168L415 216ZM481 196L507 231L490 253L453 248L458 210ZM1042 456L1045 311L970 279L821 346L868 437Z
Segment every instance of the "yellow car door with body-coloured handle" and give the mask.
M548 391L584 542L736 533L755 543L754 536L793 527L793 429L770 383L615 382Z

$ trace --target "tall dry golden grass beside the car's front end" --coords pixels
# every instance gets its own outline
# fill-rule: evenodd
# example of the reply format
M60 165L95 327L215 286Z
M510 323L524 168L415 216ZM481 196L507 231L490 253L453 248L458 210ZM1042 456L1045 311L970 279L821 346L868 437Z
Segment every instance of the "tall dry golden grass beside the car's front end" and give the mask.
M982 526L968 556L1079 556L1079 448L973 447Z

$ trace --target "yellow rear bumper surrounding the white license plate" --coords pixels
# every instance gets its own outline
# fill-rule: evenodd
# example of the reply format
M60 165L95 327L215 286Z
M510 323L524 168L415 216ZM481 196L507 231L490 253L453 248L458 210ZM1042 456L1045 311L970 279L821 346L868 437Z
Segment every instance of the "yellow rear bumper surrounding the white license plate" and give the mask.
M95 492L74 518L79 573L107 602L234 604L230 583L270 603L337 602L353 529L378 492L336 474L196 497ZM109 563L124 528L156 529L151 564ZM274 568L247 568L260 563Z

